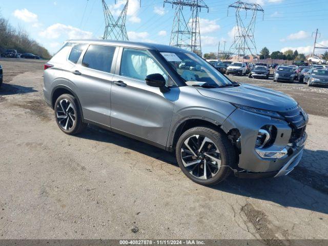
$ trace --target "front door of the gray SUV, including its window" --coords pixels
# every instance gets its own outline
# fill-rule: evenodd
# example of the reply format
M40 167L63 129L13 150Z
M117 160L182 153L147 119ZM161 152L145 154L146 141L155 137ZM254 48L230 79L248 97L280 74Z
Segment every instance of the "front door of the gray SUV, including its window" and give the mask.
M172 80L147 50L124 48L111 90L111 127L165 146L179 88L162 93L145 78L160 73Z

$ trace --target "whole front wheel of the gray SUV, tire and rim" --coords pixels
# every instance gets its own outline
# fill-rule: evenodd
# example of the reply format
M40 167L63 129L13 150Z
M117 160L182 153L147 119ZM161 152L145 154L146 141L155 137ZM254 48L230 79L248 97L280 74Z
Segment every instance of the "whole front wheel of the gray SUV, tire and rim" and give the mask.
M235 164L235 150L224 133L195 127L183 133L176 146L182 172L201 185L211 186L228 177Z

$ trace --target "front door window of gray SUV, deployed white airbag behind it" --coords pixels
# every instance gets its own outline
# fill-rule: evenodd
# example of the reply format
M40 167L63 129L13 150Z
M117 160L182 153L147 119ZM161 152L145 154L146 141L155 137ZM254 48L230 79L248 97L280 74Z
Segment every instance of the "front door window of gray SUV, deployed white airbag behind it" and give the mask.
M145 80L147 75L153 73L160 73L168 81L166 73L147 51L127 48L123 50L120 75Z

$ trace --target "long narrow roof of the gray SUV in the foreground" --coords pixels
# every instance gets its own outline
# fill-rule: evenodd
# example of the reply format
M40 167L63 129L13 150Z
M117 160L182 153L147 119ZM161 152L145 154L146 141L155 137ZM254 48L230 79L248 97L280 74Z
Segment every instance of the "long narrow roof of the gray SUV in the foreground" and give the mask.
M71 39L71 40L67 40L66 42L87 43L87 44L109 44L109 45L116 45L116 46L126 46L132 48L157 50L160 52L188 52L187 50L183 50L173 46L144 43L144 42L116 41L116 40L103 40L103 39Z

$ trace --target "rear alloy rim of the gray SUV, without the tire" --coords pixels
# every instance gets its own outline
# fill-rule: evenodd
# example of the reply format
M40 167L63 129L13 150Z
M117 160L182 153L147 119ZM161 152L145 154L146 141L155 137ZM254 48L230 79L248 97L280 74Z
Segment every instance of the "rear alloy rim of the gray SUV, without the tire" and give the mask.
M62 99L58 102L56 108L56 119L60 127L66 131L71 130L75 126L76 113L69 100Z

